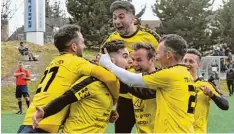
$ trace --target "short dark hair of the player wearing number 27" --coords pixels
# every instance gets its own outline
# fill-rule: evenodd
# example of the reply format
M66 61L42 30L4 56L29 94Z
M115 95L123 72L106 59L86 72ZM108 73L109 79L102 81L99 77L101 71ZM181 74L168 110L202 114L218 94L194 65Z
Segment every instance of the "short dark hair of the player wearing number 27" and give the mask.
M78 25L67 24L59 29L54 35L54 45L59 52L67 51L68 43L78 39L77 32L80 32L80 27Z

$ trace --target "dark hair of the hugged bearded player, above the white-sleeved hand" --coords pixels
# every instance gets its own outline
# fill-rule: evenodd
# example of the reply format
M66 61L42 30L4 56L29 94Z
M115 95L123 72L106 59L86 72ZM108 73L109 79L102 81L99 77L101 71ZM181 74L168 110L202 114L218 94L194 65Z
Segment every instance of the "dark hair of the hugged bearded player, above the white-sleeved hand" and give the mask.
M112 40L106 42L101 48L101 52L103 54L104 54L104 48L107 49L108 53L118 52L118 50L125 48L125 43L123 40Z

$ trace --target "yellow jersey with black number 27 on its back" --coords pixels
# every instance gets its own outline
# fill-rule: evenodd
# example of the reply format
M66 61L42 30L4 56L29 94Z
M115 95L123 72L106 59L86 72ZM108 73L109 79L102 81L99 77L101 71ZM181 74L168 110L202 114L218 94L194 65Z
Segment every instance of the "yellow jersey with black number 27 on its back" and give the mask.
M32 125L32 116L36 106L45 107L50 101L61 96L82 75L90 75L93 65L85 59L72 54L57 56L44 72L36 94L28 108L23 125ZM48 132L57 132L67 108L39 123L39 128Z

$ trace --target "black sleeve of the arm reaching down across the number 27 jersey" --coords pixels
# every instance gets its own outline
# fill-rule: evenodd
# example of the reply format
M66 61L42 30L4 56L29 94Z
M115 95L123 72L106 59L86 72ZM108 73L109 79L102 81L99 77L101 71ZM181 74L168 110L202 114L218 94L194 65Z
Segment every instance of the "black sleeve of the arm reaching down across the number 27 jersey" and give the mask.
M68 90L62 96L51 101L46 107L44 107L44 117L54 115L61 111L67 105L76 102L77 98L72 90Z

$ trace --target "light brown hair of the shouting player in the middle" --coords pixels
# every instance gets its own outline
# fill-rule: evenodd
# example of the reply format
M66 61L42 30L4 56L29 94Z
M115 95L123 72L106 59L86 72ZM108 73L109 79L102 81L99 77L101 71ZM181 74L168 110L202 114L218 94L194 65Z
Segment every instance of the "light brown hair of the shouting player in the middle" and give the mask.
M134 43L132 45L132 49L134 51L137 51L139 49L147 50L148 51L148 54L147 54L148 59L151 59L152 57L155 57L155 55L156 55L154 47L148 43L141 43L141 42Z

